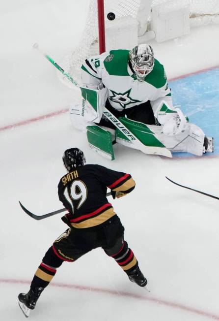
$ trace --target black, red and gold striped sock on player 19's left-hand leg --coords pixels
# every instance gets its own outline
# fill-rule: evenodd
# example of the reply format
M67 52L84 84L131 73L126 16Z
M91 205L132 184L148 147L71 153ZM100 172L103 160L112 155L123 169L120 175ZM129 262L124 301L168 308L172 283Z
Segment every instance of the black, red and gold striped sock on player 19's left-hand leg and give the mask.
M56 268L62 264L62 260L55 256L52 247L47 251L43 257L43 261L36 270L30 289L46 288L52 281L56 273Z

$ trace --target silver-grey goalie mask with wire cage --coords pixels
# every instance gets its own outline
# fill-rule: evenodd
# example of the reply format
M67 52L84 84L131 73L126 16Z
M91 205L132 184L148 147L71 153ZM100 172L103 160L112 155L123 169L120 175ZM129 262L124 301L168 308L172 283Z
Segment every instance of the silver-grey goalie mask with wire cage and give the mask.
M154 52L150 45L141 44L129 52L129 59L136 73L137 80L144 81L144 78L154 67Z

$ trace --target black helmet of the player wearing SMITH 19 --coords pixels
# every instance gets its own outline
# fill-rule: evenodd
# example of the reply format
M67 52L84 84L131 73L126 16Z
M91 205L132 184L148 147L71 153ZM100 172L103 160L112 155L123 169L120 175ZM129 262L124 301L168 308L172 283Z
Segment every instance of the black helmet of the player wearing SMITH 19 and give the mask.
M72 169L82 166L86 163L85 157L81 149L69 148L62 157L65 168L70 172Z

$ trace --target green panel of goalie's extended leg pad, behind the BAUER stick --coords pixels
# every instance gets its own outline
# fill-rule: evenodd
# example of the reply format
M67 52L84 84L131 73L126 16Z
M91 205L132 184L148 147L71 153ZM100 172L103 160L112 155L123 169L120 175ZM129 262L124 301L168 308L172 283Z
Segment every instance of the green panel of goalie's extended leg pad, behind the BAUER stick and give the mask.
M125 117L119 117L120 122L126 126L146 146L165 147L155 136L155 133L143 123L133 121ZM128 138L116 128L116 138L128 140Z

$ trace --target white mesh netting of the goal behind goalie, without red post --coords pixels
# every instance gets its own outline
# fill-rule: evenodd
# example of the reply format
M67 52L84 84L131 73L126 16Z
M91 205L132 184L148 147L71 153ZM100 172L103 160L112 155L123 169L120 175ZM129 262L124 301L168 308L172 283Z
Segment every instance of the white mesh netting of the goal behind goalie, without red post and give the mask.
M105 0L105 27L109 23L107 19L109 12L113 12L116 18L131 16L139 21L138 13L142 1L148 0ZM152 0L151 2L152 8L163 5L165 10L171 9L171 0ZM182 0L181 2L190 5L191 26L219 23L219 0ZM149 25L150 13L145 20ZM82 39L70 57L69 73L79 81L82 62L87 57L97 54L99 54L97 0L90 0Z

